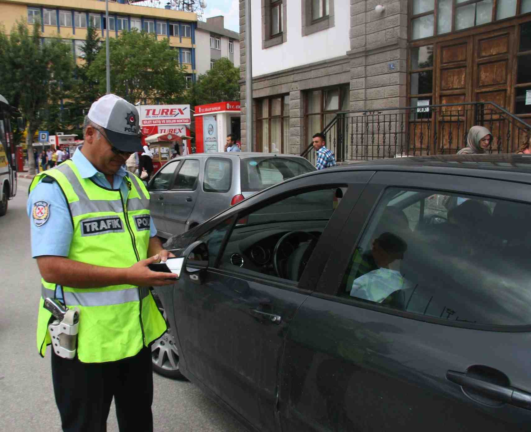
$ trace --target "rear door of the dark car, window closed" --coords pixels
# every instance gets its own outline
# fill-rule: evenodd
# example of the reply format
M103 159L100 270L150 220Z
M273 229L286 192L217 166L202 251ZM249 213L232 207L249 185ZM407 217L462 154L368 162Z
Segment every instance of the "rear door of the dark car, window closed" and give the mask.
M289 327L282 431L528 429L528 188L376 173Z

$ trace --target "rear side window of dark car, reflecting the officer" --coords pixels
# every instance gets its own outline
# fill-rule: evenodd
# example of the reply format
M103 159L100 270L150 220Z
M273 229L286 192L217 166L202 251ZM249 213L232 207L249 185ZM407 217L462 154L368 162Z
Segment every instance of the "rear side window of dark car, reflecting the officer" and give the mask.
M338 295L432 318L527 325L529 217L528 204L390 188Z

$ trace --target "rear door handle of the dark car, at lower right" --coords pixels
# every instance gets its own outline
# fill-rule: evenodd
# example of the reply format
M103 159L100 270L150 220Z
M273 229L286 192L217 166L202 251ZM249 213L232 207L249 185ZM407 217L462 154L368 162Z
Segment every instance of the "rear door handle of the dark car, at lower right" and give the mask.
M508 403L511 405L531 410L531 394L523 392L516 388L504 387L498 384L492 384L482 379L468 377L462 372L449 370L446 372L446 378L452 383L459 384L462 387L468 387L484 394L491 399Z

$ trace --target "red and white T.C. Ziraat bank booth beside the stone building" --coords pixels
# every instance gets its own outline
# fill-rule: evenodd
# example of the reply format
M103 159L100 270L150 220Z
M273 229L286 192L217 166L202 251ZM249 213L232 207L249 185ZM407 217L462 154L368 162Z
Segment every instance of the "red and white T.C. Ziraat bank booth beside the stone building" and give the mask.
M195 107L195 153L225 151L227 135L240 139L239 101L217 102Z

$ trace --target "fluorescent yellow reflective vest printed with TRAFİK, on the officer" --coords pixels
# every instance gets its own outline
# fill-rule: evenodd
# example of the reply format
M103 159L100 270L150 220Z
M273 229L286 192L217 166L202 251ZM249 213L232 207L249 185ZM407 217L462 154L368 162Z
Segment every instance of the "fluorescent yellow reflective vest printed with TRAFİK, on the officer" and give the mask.
M30 191L46 175L58 183L70 208L73 236L67 258L122 268L147 258L149 193L138 177L129 173L124 178L130 188L124 201L119 189L107 189L83 179L71 160L35 176ZM55 319L42 305L46 297L55 297L55 289L55 284L41 279L37 350L42 357L51 343L48 323ZM66 306L80 309L77 356L82 362L132 357L166 332L166 321L148 287L63 286L63 297Z

